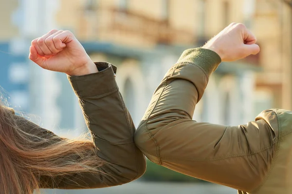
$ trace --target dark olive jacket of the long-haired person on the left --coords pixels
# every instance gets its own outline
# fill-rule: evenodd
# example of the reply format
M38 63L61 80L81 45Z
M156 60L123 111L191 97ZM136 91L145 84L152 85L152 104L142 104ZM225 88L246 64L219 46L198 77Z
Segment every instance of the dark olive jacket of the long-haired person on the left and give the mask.
M89 189L121 185L141 177L146 170L145 156L134 144L135 126L115 82L116 67L108 63L96 65L98 73L68 79L79 98L87 127L97 148L95 153L89 154L97 154L105 164L97 166L99 174L79 173L55 180L40 176L41 188ZM26 132L44 138L56 136L47 129L15 116L18 126ZM74 157L66 156L70 160L74 160Z

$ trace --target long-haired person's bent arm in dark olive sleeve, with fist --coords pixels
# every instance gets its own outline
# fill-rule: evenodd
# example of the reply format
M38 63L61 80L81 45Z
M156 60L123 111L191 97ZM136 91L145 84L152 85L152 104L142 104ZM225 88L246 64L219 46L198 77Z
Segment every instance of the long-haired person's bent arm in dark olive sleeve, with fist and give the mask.
M71 173L54 182L41 177L42 185L58 189L100 188L142 176L146 161L134 144L135 127L115 82L116 68L108 63L94 64L69 31L53 30L32 41L30 59L42 68L69 76L96 146L89 154L105 162L102 166L96 164L99 173ZM64 164L75 161L74 157L64 156Z

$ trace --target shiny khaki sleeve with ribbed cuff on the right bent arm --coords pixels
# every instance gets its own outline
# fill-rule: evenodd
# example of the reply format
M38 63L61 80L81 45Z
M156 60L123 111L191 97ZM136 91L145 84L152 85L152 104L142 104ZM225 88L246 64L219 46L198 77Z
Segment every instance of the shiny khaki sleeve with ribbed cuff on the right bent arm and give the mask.
M277 141L274 111L254 122L222 126L192 120L221 59L208 49L184 51L156 89L135 133L146 157L174 171L252 191L270 167Z

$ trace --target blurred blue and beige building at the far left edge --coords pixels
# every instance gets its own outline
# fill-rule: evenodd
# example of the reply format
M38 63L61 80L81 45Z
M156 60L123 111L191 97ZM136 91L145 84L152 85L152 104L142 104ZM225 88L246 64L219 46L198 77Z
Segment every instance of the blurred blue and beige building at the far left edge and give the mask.
M27 56L22 52L23 41L18 41L19 34L16 18L13 14L18 8L17 0L0 2L0 85L4 97L10 96L9 102L29 109L29 72Z

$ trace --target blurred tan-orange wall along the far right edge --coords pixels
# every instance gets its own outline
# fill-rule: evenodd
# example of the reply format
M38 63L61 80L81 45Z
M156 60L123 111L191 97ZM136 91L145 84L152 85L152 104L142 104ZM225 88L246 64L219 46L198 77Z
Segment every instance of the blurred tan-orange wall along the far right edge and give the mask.
M292 9L279 0L257 0L253 32L261 46L257 84L274 93L274 107L292 109Z

